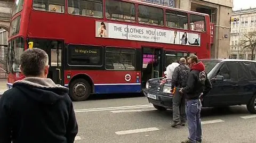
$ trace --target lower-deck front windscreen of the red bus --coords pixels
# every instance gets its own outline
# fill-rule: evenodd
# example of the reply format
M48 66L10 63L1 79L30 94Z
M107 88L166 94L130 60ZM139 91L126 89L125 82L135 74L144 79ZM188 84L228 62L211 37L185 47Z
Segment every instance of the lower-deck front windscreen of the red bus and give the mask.
M7 53L7 71L20 72L20 56L24 51L24 40L21 37L9 41Z

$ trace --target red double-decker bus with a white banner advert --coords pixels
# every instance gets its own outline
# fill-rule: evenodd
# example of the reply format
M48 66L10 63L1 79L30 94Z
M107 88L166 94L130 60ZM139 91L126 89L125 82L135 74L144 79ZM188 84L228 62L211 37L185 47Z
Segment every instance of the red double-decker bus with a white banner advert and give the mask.
M73 100L141 92L190 54L210 58L207 14L132 0L17 0L10 25L9 88L27 48L49 54L49 78ZM28 63L29 64L29 63Z

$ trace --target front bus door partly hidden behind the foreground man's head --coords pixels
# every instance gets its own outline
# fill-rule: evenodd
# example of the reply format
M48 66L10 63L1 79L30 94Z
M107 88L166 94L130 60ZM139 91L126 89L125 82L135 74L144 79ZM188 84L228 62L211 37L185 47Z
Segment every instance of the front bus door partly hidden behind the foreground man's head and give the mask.
M32 44L33 43L33 44ZM43 49L49 56L49 74L47 78L56 84L63 85L62 50L63 40L29 39L29 45L33 48Z

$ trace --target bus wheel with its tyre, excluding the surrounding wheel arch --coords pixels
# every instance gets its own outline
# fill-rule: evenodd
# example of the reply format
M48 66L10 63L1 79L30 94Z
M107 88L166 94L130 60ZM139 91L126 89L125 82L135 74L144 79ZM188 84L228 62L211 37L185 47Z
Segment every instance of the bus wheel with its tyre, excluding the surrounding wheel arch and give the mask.
M83 101L90 96L91 86L85 79L76 79L70 84L70 96L73 101Z

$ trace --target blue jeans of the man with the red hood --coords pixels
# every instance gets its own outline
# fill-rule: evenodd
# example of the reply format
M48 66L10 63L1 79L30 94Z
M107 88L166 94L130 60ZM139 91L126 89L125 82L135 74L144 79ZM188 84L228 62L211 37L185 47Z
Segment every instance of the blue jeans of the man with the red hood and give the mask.
M188 139L192 143L202 141L202 128L201 128L201 101L199 99L186 101L186 114L188 120Z

